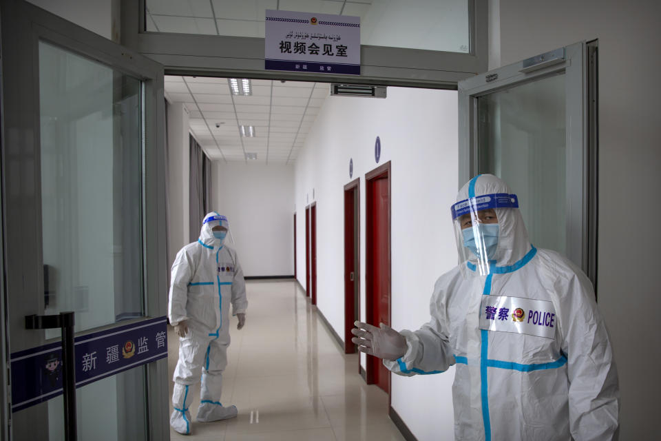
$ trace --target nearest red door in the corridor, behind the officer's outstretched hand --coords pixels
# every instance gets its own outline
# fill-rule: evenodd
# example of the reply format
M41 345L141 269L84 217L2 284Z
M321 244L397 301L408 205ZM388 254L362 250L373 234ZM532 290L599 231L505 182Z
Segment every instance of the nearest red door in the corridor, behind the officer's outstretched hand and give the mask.
M367 176L367 321L390 325L390 163ZM368 384L390 392L390 371L368 356Z

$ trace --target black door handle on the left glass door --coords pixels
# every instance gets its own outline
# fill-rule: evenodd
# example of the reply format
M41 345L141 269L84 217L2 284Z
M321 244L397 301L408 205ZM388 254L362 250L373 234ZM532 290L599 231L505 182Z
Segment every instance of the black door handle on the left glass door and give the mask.
M64 371L64 433L66 441L76 441L76 349L74 347L74 313L61 312L59 316L25 316L25 329L52 329L62 331L62 367Z

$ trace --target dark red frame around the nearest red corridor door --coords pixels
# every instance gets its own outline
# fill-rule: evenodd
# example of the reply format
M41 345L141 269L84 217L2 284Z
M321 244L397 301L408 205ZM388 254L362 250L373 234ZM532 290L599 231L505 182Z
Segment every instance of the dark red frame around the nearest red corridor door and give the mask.
M373 305L373 297L374 297L374 292L373 292L373 286L371 283L369 283L370 280L373 278L374 274L374 268L373 268L373 229L370 228L370 225L374 225L373 218L374 218L374 213L372 212L371 205L372 205L372 188L374 185L374 181L376 181L379 178L387 178L388 179L388 263L387 263L387 274L386 274L386 286L388 287L388 323L386 325L390 325L392 322L392 314L391 314L391 305L392 305L392 278L391 278L391 273L392 273L392 258L391 258L391 249L392 247L390 246L391 243L391 230L392 230L392 172L390 170L390 161L387 163L384 163L383 165L380 165L379 167L375 168L371 172L368 172L365 174L365 193L366 193L366 243L365 243L365 251L366 251L366 274L365 274L365 291L366 291L366 304L365 304L365 309L366 309L366 320L368 323L372 325L379 326L379 323L375 322L375 318L373 317L373 310L374 310L374 305ZM379 369L379 365L381 365L381 360L378 358L375 358L374 356L367 356L367 369L366 369L366 380L367 384L374 384L376 382L376 374L375 371L376 369ZM390 377L388 376L388 402L390 402Z

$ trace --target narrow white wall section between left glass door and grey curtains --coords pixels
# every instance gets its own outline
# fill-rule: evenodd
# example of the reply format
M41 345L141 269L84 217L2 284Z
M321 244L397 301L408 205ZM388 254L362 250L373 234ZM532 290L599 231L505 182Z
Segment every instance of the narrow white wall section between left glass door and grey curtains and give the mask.
M189 114L184 103L168 103L168 269L181 247L191 241L189 229L191 146L188 121Z

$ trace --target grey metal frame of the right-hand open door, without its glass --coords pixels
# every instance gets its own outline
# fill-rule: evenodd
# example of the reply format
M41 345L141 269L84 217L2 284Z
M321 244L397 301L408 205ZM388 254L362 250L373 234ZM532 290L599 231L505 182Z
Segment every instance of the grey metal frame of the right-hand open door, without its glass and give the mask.
M596 100L596 95L589 95L587 86L588 75L594 72L589 64L590 47L594 44L575 43L560 48L564 50L563 60L549 62L547 57L545 61L542 54L459 81L459 188L477 173L475 121L479 97L564 72L567 257L596 284L596 139L589 136L589 127L596 119L594 112L589 111L589 103ZM528 70L525 65L533 59L538 62L538 68Z

